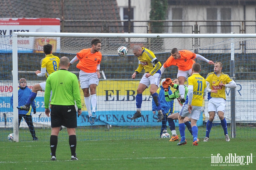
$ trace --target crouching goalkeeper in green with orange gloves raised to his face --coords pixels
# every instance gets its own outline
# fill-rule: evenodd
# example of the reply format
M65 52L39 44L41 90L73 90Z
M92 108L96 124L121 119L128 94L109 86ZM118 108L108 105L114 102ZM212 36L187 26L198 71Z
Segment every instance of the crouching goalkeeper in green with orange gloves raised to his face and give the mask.
M169 85L176 89L176 91L173 92L172 95L168 94L168 86ZM181 103L181 96L179 94L179 80L177 78L174 79L173 82L170 78L166 78L166 81L164 81L162 83L162 86L165 89L164 95L165 95L165 100L166 101L173 101L174 99L177 99L179 101L179 103L181 105L183 105L183 103ZM186 99L184 103L186 105L183 105L181 110L182 110L182 112L188 112L188 105L187 105L187 103L188 103L188 98L187 98L188 88L187 88L187 86L184 86L184 88L185 88L185 99ZM179 116L179 112L176 112L176 113L171 114L167 117L168 125L170 127L170 130L172 131L172 137L170 139L170 142L174 142L174 141L179 140L179 137L178 137L178 135L176 133L176 130L175 130L175 123L174 123L174 120L178 120L178 116ZM191 124L190 124L189 120L190 120L190 118L185 117L184 118L184 124L187 126L187 129L189 130L189 132L192 135L192 127L191 127ZM200 141L200 140L197 139L197 141Z

